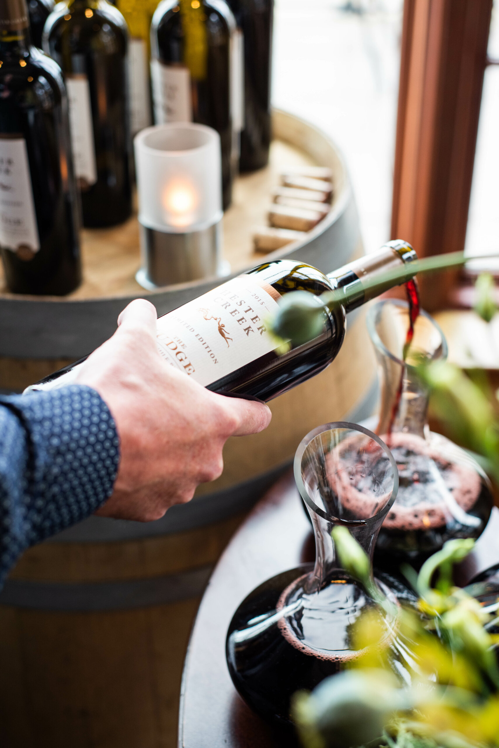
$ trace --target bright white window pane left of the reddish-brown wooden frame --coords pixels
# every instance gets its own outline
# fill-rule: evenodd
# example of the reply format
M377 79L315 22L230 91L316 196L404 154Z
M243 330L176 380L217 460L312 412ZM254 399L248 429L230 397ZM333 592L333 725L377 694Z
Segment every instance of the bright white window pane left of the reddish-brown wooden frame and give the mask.
M390 238L403 0L276 0L273 105L347 162L366 251Z

